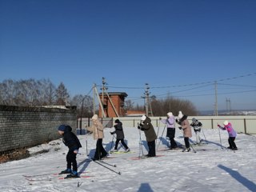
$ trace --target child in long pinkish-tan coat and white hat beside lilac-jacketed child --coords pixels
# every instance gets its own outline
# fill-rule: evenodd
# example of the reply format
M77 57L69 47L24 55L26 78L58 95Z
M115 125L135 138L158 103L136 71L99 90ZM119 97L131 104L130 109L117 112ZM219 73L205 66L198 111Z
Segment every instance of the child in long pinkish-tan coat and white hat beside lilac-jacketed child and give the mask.
M180 125L178 127L178 129L183 130L184 142L185 142L185 146L186 146L186 149L184 149L182 151L189 152L190 151L189 139L192 137L190 123L187 120L186 114L183 115L182 111L179 111L178 118L179 118L179 120L176 119L176 122L178 122L178 124Z

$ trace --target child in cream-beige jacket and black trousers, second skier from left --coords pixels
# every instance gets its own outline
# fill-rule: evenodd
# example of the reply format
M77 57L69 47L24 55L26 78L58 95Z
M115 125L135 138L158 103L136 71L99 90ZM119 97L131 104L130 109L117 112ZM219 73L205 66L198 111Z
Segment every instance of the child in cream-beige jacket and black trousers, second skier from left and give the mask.
M98 121L97 114L94 114L94 116L92 117L92 120L93 120L93 125L90 127L87 127L87 130L89 130L90 132L93 132L94 140L97 139L94 158L92 158L95 161L101 158L105 158L107 153L104 147L102 146L102 140L104 138L102 123Z

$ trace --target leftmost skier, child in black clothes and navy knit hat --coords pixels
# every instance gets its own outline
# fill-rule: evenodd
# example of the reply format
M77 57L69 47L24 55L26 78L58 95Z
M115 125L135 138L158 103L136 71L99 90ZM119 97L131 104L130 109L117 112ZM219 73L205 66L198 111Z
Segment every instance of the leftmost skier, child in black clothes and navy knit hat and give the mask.
M82 147L78 137L72 132L71 126L58 126L58 133L62 135L62 142L69 148L66 154L66 170L62 170L60 174L68 174L67 178L78 178L77 154ZM71 170L73 166L73 170Z

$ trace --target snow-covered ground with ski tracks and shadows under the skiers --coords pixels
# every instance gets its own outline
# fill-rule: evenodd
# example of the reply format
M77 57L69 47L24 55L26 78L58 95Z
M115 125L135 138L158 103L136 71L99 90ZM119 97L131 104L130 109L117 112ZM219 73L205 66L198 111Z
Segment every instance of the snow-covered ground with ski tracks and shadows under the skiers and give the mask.
M113 128L112 128L113 129ZM106 128L103 144L107 151L112 146L110 128ZM155 127L156 132L158 127ZM181 150L165 151L169 143L164 137L158 139L158 158L133 160L139 154L139 130L124 128L126 142L133 153L110 154L106 167L86 161L86 146L90 156L94 154L95 141L92 136L78 135L82 142L78 155L78 171L86 178L60 179L58 172L66 169L67 148L58 139L47 145L31 148L31 153L49 150L30 158L0 164L0 191L256 191L256 138L238 134L235 140L238 150L225 150L227 133L217 129L203 130L202 146L193 146L197 153ZM161 138L160 127L158 138ZM56 131L56 134L57 131ZM205 135L205 137L204 137ZM220 139L221 138L221 139ZM87 139L87 145L86 145ZM182 133L176 130L176 141L184 144ZM191 142L195 141L194 134ZM143 153L146 154L145 136L142 132ZM114 143L113 143L114 146ZM122 147L120 146L122 151ZM121 175L115 172L121 172ZM25 177L31 176L31 177ZM90 176L90 177L89 177Z

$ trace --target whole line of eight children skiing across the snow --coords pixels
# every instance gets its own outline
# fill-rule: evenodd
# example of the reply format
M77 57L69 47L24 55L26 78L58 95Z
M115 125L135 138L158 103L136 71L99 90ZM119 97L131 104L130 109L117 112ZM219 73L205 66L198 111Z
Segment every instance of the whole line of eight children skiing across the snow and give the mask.
M167 113L167 118L162 119L159 118L160 121L167 125L166 137L170 138L170 149L173 150L177 148L177 143L175 142L175 122L178 123L178 128L183 131L183 138L185 142L186 149L183 151L189 152L190 151L190 142L189 138L192 137L191 127L194 129L194 133L196 134L196 142L200 143L200 131L202 130L202 123L199 122L196 118L192 118L192 123L190 124L187 120L187 115L182 114L182 111L179 111L178 118L174 118L174 115L169 112ZM94 153L94 158L92 160L99 160L106 157L107 152L102 146L102 139L104 138L103 134L103 126L102 123L98 120L98 115L94 114L92 117L92 126L86 127L86 130L90 131L94 135L94 140L96 142L96 150ZM119 119L114 121L114 131L110 132L110 134L116 134L116 142L114 146L114 151L118 150L118 143L122 142L122 146L125 147L126 152L129 152L130 149L124 142L124 132L122 128L122 122ZM223 126L218 124L218 127L221 130L227 130L229 134L228 142L229 142L229 149L230 150L238 150L234 140L236 138L236 132L231 125L230 122L223 122ZM146 142L148 146L148 154L146 157L155 157L155 140L157 139L157 134L155 133L154 126L151 123L151 119L146 115L142 115L141 123L138 125L138 129L144 131L146 136ZM78 137L72 132L72 128L67 125L61 125L58 127L58 133L62 135L63 143L69 148L68 153L66 154L66 170L63 170L60 174L68 174L66 178L78 178L78 166L76 161L76 155L78 154L78 150L82 147L81 143L78 140ZM71 166L73 166L73 170L71 170Z

